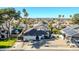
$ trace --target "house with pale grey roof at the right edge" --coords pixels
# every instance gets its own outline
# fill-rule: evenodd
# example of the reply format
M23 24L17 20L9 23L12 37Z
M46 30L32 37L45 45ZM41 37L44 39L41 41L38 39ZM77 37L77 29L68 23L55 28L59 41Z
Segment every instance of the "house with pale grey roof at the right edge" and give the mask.
M61 30L64 37L79 47L79 25L71 25Z

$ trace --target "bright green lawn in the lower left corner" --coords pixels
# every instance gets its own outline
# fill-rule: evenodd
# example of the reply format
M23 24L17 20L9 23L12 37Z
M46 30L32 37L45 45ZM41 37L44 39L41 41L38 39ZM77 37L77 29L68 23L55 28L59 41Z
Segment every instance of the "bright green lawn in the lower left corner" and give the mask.
M13 46L15 42L16 42L16 38L5 39L4 41L0 41L0 48L9 48Z

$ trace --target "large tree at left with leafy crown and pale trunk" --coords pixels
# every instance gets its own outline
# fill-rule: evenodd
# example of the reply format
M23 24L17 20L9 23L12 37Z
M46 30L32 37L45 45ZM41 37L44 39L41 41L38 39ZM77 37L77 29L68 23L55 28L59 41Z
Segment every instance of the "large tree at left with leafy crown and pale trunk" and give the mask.
M8 31L8 36L11 34L11 20L20 17L20 11L16 12L15 8L0 9L0 24L5 23Z

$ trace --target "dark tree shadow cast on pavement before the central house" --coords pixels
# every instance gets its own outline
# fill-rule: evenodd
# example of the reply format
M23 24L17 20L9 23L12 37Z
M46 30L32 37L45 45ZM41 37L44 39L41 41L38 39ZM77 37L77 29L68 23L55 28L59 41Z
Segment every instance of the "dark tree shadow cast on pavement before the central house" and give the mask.
M41 40L37 39L35 41L33 41L32 43L32 48L36 48L39 49L41 46L43 46L44 44L46 44L48 41L54 41L55 37L45 37L45 38L41 38Z

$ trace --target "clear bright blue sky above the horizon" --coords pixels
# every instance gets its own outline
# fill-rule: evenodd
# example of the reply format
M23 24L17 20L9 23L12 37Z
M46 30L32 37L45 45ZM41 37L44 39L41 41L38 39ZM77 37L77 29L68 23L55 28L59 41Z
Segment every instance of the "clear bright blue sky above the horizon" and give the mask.
M79 13L79 7L14 7L17 11L26 9L30 18L56 18L58 15L69 15ZM23 16L23 14L21 14Z

